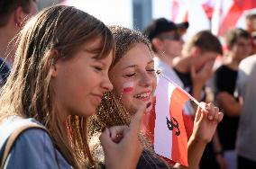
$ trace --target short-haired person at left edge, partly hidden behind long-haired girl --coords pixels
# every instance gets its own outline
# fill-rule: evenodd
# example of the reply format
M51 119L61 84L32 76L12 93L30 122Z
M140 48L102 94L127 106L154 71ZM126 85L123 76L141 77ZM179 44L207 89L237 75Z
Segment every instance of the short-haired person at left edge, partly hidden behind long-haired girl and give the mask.
M37 13L35 0L0 1L0 87L14 62L15 36L30 16Z

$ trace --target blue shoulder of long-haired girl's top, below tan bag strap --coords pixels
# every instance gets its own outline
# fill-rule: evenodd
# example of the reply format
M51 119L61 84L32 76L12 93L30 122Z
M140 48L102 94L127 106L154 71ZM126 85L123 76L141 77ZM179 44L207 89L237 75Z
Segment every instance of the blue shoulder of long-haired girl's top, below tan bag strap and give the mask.
M6 168L59 168L56 149L43 129L26 129L15 140Z

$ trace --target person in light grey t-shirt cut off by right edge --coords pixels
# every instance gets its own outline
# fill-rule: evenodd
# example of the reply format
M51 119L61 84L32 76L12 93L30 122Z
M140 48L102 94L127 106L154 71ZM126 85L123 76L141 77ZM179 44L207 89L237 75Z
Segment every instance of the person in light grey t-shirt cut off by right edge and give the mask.
M238 68L235 95L240 98L242 113L240 115L236 138L236 152L238 155L237 168L256 167L256 55L244 58Z

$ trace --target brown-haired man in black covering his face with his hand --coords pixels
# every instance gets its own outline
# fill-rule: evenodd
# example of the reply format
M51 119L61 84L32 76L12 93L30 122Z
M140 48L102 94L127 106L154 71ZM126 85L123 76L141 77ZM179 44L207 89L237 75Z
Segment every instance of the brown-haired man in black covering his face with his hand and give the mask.
M173 69L184 84L184 89L199 102L207 101L206 82L213 75L215 58L223 54L220 41L210 31L198 31L182 50L181 57L173 60ZM196 104L192 104L194 108ZM217 168L214 146L207 145L202 157L202 168Z

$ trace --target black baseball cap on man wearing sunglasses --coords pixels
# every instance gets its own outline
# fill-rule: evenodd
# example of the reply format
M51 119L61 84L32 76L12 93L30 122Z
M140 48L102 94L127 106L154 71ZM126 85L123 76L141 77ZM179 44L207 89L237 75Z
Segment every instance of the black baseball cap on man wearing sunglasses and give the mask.
M188 28L188 22L180 22L178 24L171 22L165 18L153 20L143 31L143 34L152 40L154 37L165 31L175 31L178 28Z

